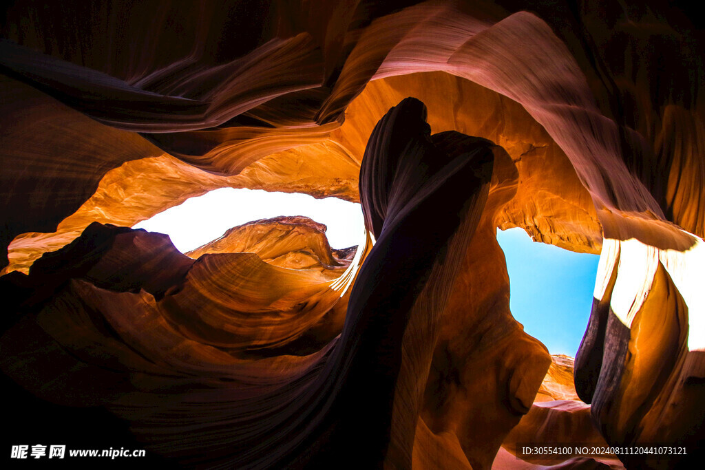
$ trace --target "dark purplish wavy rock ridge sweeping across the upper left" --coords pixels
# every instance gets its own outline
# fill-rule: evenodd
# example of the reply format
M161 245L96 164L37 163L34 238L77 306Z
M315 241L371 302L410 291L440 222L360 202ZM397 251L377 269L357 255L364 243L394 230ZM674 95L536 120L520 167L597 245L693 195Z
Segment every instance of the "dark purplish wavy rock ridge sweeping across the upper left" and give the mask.
M322 81L320 51L307 33L272 39L231 63L192 66L181 73L169 70L154 88L157 92L149 91L144 80L130 85L6 40L0 42L0 54L13 73L59 101L113 127L139 132L216 127L274 97ZM290 72L286 82L281 80L283 70Z

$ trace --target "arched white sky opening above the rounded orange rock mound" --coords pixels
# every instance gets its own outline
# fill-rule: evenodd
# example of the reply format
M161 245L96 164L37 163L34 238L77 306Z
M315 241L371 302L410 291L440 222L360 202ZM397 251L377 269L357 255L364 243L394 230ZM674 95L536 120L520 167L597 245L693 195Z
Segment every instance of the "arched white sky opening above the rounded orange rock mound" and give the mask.
M326 235L333 248L353 247L364 242L360 204L335 197L315 199L308 194L231 187L187 199L134 228L166 233L174 246L185 253L215 240L229 228L277 216L307 216L326 224Z

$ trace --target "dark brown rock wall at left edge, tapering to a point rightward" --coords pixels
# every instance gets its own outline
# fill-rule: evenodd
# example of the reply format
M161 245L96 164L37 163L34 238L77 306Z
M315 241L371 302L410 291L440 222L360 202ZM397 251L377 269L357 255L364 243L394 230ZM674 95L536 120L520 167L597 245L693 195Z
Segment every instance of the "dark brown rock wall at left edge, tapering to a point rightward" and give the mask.
M133 132L99 124L5 75L0 93L3 250L21 233L55 230L93 194L106 171L163 153Z

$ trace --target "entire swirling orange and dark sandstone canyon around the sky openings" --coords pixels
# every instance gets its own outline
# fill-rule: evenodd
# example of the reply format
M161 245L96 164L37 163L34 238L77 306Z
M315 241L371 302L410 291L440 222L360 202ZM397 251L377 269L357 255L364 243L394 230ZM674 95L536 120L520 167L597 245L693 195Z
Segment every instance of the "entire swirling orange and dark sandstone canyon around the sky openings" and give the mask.
M698 462L705 49L682 8L6 7L6 390L184 465L335 466L354 442L358 468L483 469L570 430L687 447L629 468ZM362 202L372 236L334 252L272 219L189 257L125 228L223 186ZM590 407L511 317L498 227L601 253Z

